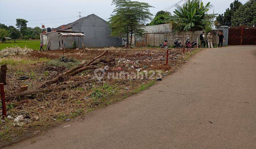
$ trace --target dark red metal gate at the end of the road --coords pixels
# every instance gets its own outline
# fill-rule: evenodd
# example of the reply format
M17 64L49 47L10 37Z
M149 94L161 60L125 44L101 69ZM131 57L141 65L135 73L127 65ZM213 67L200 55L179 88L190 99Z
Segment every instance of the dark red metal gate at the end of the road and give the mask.
M245 26L229 28L228 45L256 45L256 28Z

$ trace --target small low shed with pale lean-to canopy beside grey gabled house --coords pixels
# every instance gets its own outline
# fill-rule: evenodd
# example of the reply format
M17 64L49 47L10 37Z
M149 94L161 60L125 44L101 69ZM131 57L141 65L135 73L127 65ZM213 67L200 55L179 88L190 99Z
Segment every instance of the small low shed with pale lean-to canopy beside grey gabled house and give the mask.
M47 50L70 48L75 42L78 42L78 44L76 44L77 48L84 48L80 47L79 44L79 42L84 42L83 37L84 34L82 32L73 31L54 31L40 35L40 39L43 42L43 45L46 45Z

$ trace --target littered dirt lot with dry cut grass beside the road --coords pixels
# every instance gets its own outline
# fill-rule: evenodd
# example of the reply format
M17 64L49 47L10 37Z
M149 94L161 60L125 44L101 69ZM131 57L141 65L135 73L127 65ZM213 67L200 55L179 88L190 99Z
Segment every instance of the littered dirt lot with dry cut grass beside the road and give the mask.
M6 96L19 93L21 85L28 85L28 90L40 90L44 82L78 65L82 60L89 61L103 51L110 50L102 57L105 59L120 49L66 50L64 56L70 62L59 61L59 57L63 56L62 50L33 51L26 55L4 57L7 64L10 60L17 61L7 65ZM66 76L53 84L54 89L51 92L8 99L6 104L9 117L0 123L0 140L8 143L17 139L16 136L29 136L47 131L48 128L69 121L75 116L138 93L153 85L157 77L164 78L173 72L196 50L186 49L185 51L184 58L183 49L170 49L169 65L166 66L166 51L163 49L122 49L115 55L114 61L108 64L106 62L97 64L102 68L109 66L100 81L97 76L101 76L102 72L86 70L75 76ZM21 76L27 76L29 79L17 80ZM93 79L97 81L88 82ZM77 82L84 83L76 84ZM58 89L63 84L71 85ZM23 121L22 125L14 126L14 119L20 115L28 116L28 122Z

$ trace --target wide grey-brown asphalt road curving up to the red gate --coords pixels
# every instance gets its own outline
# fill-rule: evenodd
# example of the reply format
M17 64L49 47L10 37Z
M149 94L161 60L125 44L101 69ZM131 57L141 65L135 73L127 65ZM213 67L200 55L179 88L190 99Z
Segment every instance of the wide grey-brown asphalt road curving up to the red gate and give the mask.
M150 89L74 121L9 148L256 148L256 46L200 51Z

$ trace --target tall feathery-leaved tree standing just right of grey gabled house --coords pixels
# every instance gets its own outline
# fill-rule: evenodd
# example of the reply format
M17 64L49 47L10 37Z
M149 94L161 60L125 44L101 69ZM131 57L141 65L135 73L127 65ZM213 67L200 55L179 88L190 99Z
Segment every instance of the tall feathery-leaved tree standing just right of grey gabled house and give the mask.
M142 36L144 33L144 23L151 20L152 14L149 8L152 7L148 3L131 1L131 0L113 0L115 5L113 15L109 18L112 36L120 36L122 34L128 36L130 34L130 44L132 44L132 35Z

